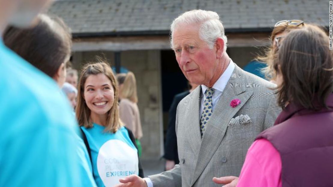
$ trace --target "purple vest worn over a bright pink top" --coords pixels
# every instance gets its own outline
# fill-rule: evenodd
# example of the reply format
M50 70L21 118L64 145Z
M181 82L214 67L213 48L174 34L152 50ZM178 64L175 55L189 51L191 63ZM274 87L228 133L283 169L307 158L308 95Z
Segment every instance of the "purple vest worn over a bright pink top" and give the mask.
M289 104L256 138L280 153L283 187L333 187L333 94L326 103L320 111Z

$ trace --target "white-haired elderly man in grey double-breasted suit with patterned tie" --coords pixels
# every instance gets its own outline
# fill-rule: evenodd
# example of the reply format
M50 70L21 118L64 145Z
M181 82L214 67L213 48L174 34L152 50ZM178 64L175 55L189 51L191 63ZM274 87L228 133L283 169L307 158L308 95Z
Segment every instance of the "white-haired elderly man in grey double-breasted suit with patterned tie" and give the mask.
M241 70L226 53L215 12L192 10L171 24L171 47L185 77L199 84L177 108L180 164L119 186L221 186L213 177L238 176L255 137L271 127L280 108L271 84ZM215 180L219 183L219 180ZM223 181L222 181L223 182Z

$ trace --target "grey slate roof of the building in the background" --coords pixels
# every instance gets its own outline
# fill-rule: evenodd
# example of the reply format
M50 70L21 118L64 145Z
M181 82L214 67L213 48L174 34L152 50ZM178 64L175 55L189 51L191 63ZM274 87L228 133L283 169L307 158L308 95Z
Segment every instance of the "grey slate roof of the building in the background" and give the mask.
M326 0L60 0L49 13L74 36L168 34L172 20L192 9L217 12L226 32L270 31L285 19L329 24Z

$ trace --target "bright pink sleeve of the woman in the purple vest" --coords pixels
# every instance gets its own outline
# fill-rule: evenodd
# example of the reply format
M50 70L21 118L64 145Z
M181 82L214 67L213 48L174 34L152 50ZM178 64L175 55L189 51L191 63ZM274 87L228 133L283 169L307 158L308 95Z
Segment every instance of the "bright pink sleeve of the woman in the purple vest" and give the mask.
M281 157L266 139L254 141L247 151L237 187L282 187Z

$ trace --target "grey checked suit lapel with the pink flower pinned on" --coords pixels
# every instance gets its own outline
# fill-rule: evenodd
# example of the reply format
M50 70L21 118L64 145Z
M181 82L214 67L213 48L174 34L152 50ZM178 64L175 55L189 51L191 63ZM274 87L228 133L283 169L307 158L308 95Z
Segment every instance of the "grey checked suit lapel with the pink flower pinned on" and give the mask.
M253 93L253 91L245 90L244 74L241 71L242 70L235 65L235 70L214 107L212 117L208 121L207 128L202 136L191 185L193 185L201 175L217 148L220 146L231 118ZM230 106L230 101L233 99L239 99L241 101L235 108Z

